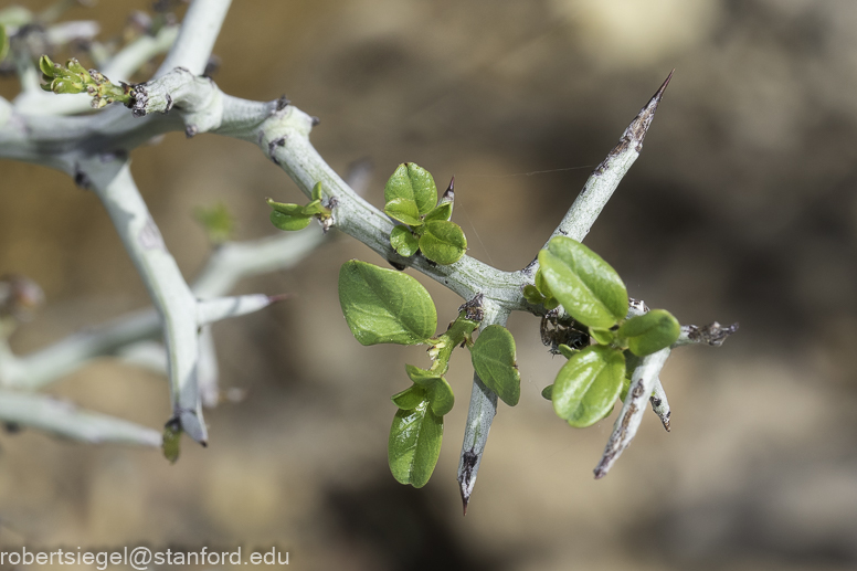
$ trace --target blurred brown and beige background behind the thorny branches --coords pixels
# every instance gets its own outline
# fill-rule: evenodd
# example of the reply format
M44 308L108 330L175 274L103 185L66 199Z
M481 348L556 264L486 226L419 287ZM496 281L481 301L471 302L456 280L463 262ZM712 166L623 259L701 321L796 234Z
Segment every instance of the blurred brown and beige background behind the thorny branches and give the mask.
M42 8L47 2L25 6ZM118 34L133 9L73 10ZM676 68L638 161L586 239L633 297L681 322L740 321L719 348L677 350L662 374L673 432L647 412L611 474L592 478L615 413L573 430L539 395L562 359L515 315L521 402L500 404L466 518L456 468L472 369L428 485L387 467L404 363L341 317L339 265L383 265L330 235L290 272L239 292L289 293L219 324L224 388L208 450L87 446L0 435L0 544L277 544L298 569L845 570L857 567L857 3L845 0L257 0L215 45L226 93L321 118L313 142L340 173L402 161L438 187L469 254L526 265L623 129ZM141 77L145 78L145 77ZM17 93L7 77L2 94ZM183 134L133 171L190 279L210 246L193 210L225 203L239 240L274 232L265 197L299 201L257 148ZM13 338L25 353L148 304L96 198L65 176L0 166L0 273L47 303ZM440 322L462 302L422 279ZM159 427L165 379L104 359L50 388Z

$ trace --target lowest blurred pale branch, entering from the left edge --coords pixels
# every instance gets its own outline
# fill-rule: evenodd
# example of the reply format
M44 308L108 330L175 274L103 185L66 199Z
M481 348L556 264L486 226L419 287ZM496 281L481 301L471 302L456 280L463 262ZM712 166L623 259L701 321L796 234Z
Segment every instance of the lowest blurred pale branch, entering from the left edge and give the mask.
M158 431L39 394L0 390L0 421L92 444L161 444Z

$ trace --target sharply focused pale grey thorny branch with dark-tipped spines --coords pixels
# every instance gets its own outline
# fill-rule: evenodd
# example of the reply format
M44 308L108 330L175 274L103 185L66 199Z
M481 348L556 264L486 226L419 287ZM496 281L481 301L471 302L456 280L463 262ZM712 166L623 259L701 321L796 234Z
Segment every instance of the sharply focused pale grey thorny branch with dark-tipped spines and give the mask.
M413 267L464 299L482 295L486 307L484 326L504 324L512 310L543 311L543 308L528 304L521 294L522 287L532 283L538 269L537 261L520 271L504 272L466 255L448 266L432 264L423 256L399 256L389 242L390 219L358 195L309 142L309 133L318 123L315 117L292 106L285 97L267 103L240 99L222 93L211 80L200 77L229 4L229 0L192 2L178 39L156 78L135 86L131 113L114 107L95 116L53 117L49 120L0 101L0 157L50 166L70 173L78 183L94 188L110 212L160 311L170 355L174 415L191 436L200 442L205 440L197 382L200 343L197 328L208 322L211 315L223 316L229 310L220 303L199 304L195 300L178 274L134 187L125 157L155 135L174 130L184 130L188 137L214 133L257 145L307 197L311 188L321 182L325 199L332 207L335 228L361 241L394 266ZM568 235L581 241L589 233L638 157L671 75L592 173L553 235ZM208 279L216 281L218 277L212 273ZM216 310L209 311L215 306ZM136 330L126 331L128 337L149 330L150 324L146 319L150 317L140 316L138 319L134 324ZM129 322L124 326L129 327ZM719 345L736 328L722 328L717 324L707 328L686 326L676 346L692 342ZM645 400L653 399L655 411L668 429L669 408L658 373L669 351L664 349L644 358L634 371L628 396L604 458L596 468L596 477L606 474L627 446L639 424ZM465 509L496 409L496 394L475 378L458 469Z

